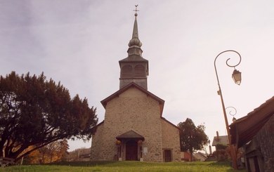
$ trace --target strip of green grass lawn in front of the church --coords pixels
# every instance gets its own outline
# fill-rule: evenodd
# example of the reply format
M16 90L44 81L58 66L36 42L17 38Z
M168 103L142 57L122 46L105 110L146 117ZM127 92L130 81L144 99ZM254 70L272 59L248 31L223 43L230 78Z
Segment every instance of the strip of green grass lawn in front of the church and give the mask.
M5 172L91 172L91 171L234 171L225 162L170 162L152 163L140 161L93 161L93 162L62 162L47 165L8 166L0 168ZM242 170L244 171L244 170Z

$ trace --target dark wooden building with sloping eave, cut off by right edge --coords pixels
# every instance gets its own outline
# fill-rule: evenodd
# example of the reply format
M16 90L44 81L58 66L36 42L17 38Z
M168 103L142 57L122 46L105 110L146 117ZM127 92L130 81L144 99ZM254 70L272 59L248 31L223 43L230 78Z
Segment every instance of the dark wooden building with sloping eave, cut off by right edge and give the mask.
M274 96L230 124L231 143L243 148L248 171L274 169Z

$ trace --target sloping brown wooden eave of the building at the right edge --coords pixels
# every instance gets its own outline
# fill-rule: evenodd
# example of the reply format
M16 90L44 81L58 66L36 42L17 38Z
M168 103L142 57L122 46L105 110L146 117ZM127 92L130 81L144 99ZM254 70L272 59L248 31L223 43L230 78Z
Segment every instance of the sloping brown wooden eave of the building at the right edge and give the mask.
M231 143L236 147L248 143L274 114L274 96L230 124Z

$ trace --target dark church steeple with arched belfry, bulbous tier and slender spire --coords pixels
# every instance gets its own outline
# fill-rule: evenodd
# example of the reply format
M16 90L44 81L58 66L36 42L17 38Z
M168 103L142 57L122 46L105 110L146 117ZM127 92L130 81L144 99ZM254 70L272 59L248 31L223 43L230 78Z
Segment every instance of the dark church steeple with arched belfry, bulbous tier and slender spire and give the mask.
M145 89L148 89L147 76L148 76L148 60L142 57L142 43L138 37L137 25L137 6L135 11L135 20L133 25L132 38L129 41L129 49L127 51L128 57L119 60L120 65L120 87L123 88L127 84L134 82Z

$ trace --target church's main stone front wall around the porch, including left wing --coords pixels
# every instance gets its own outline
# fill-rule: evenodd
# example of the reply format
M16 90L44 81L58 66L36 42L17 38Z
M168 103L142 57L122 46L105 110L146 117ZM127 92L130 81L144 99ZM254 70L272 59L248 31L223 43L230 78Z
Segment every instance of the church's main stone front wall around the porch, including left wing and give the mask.
M114 160L117 157L117 135L133 129L145 138L143 147L148 148L148 153L143 154L143 160L163 161L161 121L159 102L137 88L129 88L107 102L103 127L93 137L93 157ZM122 160L125 160L123 150Z

